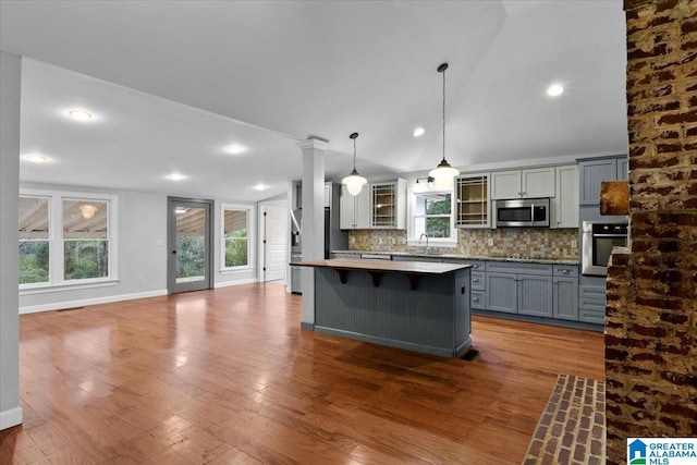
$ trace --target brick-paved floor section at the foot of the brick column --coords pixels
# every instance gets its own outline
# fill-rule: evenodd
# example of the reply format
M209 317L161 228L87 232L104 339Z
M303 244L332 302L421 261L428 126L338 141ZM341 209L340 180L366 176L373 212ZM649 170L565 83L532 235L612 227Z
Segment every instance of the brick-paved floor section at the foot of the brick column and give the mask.
M523 465L603 465L606 383L559 375Z

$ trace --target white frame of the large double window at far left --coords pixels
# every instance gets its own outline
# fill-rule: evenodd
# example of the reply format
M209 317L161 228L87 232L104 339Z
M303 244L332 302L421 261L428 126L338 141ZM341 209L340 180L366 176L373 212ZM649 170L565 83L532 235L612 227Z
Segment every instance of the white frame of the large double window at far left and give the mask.
M48 198L48 282L19 284L20 295L53 292L57 290L86 289L114 285L119 281L118 210L119 196L95 192L54 191L41 188L20 188L20 197ZM63 237L63 200L85 200L107 203L107 259L108 273L101 278L65 279L65 256Z

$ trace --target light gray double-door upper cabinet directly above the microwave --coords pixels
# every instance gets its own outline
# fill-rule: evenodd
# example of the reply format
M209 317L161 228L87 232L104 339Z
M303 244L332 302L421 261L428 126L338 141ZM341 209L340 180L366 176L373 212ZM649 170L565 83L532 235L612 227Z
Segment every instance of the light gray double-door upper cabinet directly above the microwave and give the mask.
M554 167L491 173L491 199L554 197Z

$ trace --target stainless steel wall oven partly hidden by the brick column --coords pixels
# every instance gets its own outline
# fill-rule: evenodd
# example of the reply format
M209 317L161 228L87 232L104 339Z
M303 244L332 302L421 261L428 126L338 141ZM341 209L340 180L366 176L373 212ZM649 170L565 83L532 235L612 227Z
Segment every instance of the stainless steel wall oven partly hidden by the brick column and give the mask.
M627 223L583 222L582 272L586 276L608 276L612 247L627 245Z

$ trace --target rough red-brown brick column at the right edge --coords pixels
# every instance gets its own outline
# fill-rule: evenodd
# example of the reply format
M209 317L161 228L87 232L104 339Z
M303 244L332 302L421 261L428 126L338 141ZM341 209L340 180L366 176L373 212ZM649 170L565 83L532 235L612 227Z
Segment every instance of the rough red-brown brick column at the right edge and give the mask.
M697 436L697 0L625 0L631 253L608 279L608 463Z

